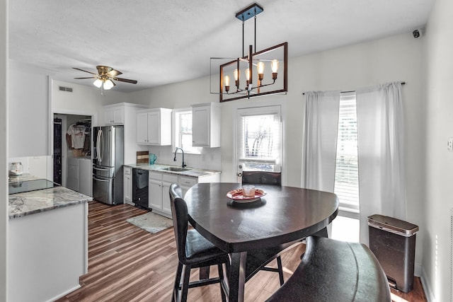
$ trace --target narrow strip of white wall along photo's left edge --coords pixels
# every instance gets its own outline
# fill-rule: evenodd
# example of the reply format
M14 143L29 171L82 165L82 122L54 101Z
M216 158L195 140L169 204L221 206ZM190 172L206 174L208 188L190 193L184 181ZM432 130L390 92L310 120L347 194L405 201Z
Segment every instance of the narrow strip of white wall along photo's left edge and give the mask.
M8 200L8 1L0 1L0 196ZM8 202L0 206L0 301L8 301L6 292L6 247L8 236Z

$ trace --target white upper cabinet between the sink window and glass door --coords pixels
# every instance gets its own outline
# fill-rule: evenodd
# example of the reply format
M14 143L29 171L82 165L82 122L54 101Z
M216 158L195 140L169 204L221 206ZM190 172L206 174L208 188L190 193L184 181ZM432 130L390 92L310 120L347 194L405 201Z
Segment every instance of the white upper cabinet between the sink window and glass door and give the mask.
M192 145L216 148L220 146L219 103L192 105Z

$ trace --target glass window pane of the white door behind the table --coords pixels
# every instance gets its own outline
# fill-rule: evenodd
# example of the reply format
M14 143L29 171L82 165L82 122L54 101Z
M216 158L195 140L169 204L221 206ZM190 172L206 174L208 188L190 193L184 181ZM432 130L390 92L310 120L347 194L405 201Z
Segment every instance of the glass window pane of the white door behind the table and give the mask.
M280 106L238 110L237 158L242 170L280 172Z

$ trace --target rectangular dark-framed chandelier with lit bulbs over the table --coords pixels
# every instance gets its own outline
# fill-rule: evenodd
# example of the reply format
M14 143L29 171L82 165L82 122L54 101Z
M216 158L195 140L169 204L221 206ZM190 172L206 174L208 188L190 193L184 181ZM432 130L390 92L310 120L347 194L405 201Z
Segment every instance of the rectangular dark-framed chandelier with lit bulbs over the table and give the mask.
M250 18L254 19L256 47L256 16L263 11L263 7L252 4L236 13L236 18L242 21L242 57L211 58L211 66L213 61L223 62L219 64L220 102L287 92L287 42L259 52L253 51L253 45L249 45L248 54L244 55L244 23ZM257 76L254 76L255 73Z

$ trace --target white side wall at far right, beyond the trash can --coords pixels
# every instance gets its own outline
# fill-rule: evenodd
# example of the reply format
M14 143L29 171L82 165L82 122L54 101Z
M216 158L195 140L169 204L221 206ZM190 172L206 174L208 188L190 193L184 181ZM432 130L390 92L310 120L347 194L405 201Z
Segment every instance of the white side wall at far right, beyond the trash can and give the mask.
M426 83L426 219L423 240L424 287L430 301L450 296L450 209L453 207L453 1L437 0L427 26ZM452 170L450 170L452 168Z

